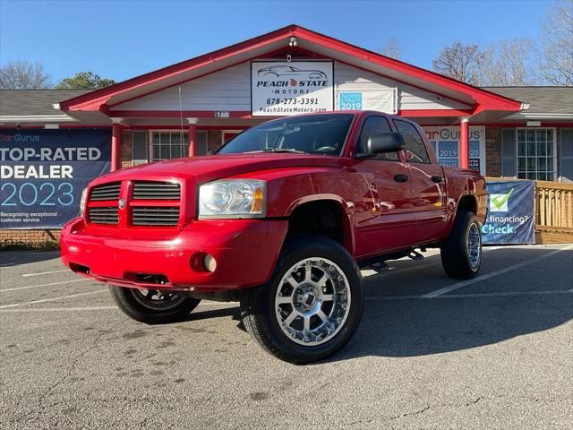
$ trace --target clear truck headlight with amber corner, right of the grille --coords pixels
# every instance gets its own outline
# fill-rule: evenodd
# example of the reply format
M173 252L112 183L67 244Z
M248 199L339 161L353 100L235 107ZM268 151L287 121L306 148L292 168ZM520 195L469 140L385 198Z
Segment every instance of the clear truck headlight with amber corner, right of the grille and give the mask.
M256 218L265 215L266 186L255 179L226 179L199 188L200 218Z

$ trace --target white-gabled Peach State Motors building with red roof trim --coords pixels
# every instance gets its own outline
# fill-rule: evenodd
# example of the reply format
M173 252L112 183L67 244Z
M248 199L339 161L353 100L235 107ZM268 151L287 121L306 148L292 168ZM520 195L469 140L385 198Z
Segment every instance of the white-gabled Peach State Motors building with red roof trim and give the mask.
M80 147L98 133L105 169L115 170L205 155L273 117L346 109L414 120L443 165L573 182L573 87L477 88L296 25L102 90L0 91L0 163L11 148L33 145L36 132ZM11 162L35 162L14 154ZM3 183L13 170L3 169ZM31 185L18 186L5 186L0 203L20 204L20 193L31 206ZM57 236L61 221L5 223L0 240Z

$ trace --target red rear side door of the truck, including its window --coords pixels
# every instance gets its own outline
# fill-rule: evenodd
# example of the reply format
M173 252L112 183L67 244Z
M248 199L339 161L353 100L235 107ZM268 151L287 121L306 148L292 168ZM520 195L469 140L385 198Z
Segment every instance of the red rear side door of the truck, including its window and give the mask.
M406 163L415 217L415 243L432 241L440 238L446 226L444 172L435 160L432 162L423 137L414 124L394 119L394 125L406 143Z

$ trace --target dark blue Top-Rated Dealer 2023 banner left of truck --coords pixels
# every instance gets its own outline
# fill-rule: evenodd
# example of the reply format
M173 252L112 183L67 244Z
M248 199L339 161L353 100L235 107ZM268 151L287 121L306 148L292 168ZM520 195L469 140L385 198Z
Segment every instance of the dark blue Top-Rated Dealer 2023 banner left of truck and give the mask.
M0 130L0 228L60 228L110 168L109 130Z

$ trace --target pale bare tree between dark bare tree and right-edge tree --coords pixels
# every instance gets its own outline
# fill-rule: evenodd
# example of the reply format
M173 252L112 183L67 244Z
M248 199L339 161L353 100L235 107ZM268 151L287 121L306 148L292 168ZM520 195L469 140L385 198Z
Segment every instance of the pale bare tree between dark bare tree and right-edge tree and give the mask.
M484 51L482 84L521 86L537 83L535 64L539 64L534 42L528 38L501 40Z

